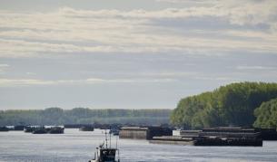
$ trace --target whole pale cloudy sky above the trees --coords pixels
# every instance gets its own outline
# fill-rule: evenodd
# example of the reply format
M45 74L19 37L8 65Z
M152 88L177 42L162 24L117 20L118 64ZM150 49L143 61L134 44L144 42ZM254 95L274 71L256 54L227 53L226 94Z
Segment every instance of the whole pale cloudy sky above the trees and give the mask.
M0 110L174 109L277 81L276 0L0 0Z

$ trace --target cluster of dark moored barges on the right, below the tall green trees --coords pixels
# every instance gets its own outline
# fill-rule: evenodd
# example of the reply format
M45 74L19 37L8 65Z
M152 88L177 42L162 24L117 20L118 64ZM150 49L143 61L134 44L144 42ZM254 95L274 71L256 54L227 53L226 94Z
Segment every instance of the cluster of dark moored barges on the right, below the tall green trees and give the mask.
M277 140L277 132L275 129L217 127L181 130L180 135L173 136L168 128L125 127L120 131L119 137L147 139L154 144L262 147L262 140Z

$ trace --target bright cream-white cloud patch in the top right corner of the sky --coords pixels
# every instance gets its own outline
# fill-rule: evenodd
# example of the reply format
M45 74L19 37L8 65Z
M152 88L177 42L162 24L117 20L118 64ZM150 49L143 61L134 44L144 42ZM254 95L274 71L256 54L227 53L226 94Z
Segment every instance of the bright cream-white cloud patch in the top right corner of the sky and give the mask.
M232 24L271 24L276 18L277 2L275 0L157 0L174 4L202 4L194 8L194 15L226 16ZM190 8L191 9L191 8ZM188 9L188 11L190 10ZM193 15L193 14L192 14ZM275 22L275 21L274 21ZM276 22L275 22L276 23Z

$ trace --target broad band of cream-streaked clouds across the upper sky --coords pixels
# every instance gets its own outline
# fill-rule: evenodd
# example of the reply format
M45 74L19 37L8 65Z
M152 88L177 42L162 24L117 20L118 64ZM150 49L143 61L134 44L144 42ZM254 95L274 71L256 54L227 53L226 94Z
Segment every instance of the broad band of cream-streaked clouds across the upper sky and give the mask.
M70 7L48 13L0 11L0 57L68 52L276 52L276 1L206 4L157 11Z

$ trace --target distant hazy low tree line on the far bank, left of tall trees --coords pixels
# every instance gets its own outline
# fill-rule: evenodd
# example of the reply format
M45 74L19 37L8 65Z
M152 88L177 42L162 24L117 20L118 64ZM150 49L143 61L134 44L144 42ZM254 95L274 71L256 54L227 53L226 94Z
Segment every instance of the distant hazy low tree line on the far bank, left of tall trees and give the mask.
M90 110L75 108L63 110L2 110L0 126L5 125L63 125L122 123L122 124L163 124L169 123L171 110Z

